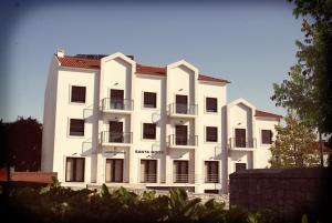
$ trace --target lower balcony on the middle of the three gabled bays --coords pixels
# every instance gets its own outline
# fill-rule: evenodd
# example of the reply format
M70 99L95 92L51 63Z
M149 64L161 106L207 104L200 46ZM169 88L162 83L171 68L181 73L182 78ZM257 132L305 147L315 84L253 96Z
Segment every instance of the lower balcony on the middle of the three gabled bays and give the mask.
M198 145L198 135L168 135L168 146L175 149L194 149Z

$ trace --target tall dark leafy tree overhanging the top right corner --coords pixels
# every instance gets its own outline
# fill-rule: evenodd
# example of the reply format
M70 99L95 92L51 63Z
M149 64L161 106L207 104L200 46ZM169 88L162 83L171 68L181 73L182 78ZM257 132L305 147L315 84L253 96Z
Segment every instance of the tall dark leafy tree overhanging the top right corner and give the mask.
M297 41L298 63L290 80L273 84L277 105L297 111L310 128L332 133L332 1L289 0L295 18L304 17L304 41ZM301 75L302 77L301 77ZM332 138L330 138L332 139Z

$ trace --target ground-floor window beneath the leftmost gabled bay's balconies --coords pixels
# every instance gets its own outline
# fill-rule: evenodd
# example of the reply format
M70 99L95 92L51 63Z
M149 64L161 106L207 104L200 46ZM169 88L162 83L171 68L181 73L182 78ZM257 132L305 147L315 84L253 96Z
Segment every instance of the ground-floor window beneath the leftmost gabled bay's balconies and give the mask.
M123 182L123 160L106 159L106 182Z

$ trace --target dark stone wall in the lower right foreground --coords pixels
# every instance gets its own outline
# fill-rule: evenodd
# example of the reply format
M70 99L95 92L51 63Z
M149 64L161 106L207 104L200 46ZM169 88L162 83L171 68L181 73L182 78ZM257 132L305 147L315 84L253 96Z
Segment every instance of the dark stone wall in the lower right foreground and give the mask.
M331 217L329 169L243 170L230 174L229 192L230 205L241 205L252 212L270 210L281 219L299 219L303 214Z

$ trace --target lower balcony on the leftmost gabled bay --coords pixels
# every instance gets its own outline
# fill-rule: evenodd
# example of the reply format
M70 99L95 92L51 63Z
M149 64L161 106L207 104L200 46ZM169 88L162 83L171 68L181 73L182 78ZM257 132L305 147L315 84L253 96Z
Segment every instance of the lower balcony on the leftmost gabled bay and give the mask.
M110 132L101 133L102 145L129 146L133 142L133 132Z

